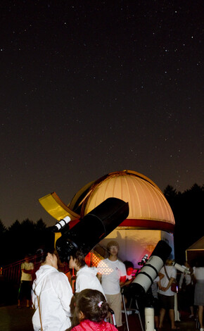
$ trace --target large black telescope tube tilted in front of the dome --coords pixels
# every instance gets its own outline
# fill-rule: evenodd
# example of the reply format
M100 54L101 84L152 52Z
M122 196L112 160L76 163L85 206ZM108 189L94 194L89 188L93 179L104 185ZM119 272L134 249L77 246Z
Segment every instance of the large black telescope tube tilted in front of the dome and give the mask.
M62 236L56 241L60 261L69 261L70 256L77 250L87 255L98 242L120 225L128 214L128 202L117 198L103 201L70 230L61 231Z

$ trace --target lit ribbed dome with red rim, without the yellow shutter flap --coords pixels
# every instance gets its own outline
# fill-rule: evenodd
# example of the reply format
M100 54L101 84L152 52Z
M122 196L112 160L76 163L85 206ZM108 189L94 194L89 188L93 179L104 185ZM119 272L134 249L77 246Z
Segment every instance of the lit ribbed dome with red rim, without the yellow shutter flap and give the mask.
M158 186L148 177L130 170L109 173L94 182L82 201L81 217L110 197L129 202L129 216L121 226L149 228L151 224L153 228L160 228L165 223L165 230L174 227L172 209Z

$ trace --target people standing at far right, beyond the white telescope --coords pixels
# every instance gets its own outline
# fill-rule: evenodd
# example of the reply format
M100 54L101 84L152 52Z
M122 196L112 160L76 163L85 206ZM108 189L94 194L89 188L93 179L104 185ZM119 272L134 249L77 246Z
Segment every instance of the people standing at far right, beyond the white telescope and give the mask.
M203 329L203 306L204 306L204 266L200 263L197 267L191 268L188 263L185 263L186 268L189 268L190 273L181 273L177 292L181 291L185 284L184 300L189 307L191 315L189 318L195 317L195 307L197 307L198 324L200 331ZM165 313L168 311L172 330L179 329L175 325L174 318L174 296L172 285L177 283L177 270L172 266L172 261L167 259L165 265L161 268L158 277L152 285L152 293L155 298L155 327L158 330L162 329ZM155 287L155 289L153 289ZM157 289L156 289L157 287ZM181 296L178 296L180 299Z

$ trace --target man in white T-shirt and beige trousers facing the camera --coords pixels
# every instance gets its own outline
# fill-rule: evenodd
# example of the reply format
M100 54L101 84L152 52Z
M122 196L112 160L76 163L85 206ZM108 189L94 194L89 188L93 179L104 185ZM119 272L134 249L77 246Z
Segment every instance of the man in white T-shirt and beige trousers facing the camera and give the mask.
M98 263L98 279L111 309L115 313L117 327L122 327L122 295L120 286L125 283L127 274L125 264L117 259L119 244L115 240L108 242L108 258Z

